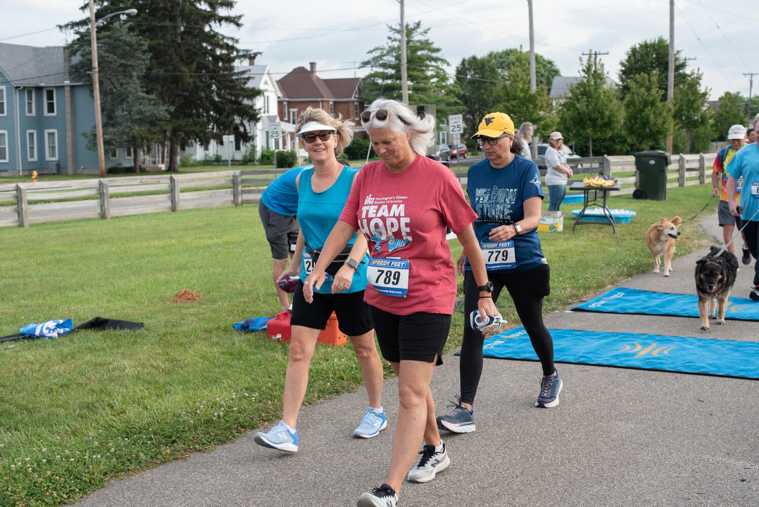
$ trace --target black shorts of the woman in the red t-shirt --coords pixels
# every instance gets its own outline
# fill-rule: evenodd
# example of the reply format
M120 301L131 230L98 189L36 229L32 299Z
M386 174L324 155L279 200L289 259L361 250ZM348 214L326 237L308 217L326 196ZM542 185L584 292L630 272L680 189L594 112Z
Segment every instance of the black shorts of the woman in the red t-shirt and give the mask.
M442 348L448 340L451 316L445 313L395 315L370 306L374 331L382 357L391 363L424 361L442 364Z

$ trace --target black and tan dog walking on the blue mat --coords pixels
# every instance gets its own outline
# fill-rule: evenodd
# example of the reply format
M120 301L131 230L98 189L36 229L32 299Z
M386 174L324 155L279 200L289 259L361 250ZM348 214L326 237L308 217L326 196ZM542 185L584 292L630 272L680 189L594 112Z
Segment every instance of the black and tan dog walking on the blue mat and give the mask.
M696 292L698 293L698 314L701 316L701 329L709 329L709 305L714 300L720 304L716 323L725 323L725 310L730 289L735 284L738 273L738 259L725 250L719 257L718 247L710 247L711 252L696 261Z

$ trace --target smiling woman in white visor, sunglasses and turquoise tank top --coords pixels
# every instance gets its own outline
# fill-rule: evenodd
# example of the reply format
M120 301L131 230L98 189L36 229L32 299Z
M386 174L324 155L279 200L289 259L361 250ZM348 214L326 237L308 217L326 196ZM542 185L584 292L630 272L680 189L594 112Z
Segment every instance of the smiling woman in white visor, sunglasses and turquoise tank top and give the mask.
M344 166L336 158L351 143L353 123L342 116L332 118L323 109L307 108L298 118L296 135L313 165L304 168L295 185L298 188L298 219L301 231L290 267L285 276L300 275L295 289L290 319L290 357L285 375L282 420L267 433L257 433L260 446L280 451L298 452L298 411L308 386L308 369L321 330L335 312L340 331L351 339L364 383L369 406L353 435L368 439L387 426L382 405L383 367L374 344L374 326L364 302L367 287L367 240L353 235L347 247L327 267L329 280L315 290L312 301L303 294L304 282L324 246L329 231L342 213L358 170ZM304 251L306 250L306 251Z

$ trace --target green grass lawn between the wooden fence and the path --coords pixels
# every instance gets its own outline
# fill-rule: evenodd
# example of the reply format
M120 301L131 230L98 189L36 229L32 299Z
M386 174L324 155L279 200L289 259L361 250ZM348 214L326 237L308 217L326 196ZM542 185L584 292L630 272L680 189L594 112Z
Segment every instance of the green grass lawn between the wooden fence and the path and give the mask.
M616 235L603 226L573 234L571 215L565 231L541 235L546 311L651 269L648 226L689 218L705 189L672 189L666 202L613 197L611 207L638 211ZM681 230L678 254L709 244L698 219ZM65 317L145 323L0 345L0 505L62 505L279 417L288 345L231 328L278 308L257 206L2 228L0 243L0 335ZM168 301L184 288L203 300ZM499 307L518 325L507 294ZM461 313L453 322L449 350L461 342ZM307 403L360 384L350 347L317 346Z

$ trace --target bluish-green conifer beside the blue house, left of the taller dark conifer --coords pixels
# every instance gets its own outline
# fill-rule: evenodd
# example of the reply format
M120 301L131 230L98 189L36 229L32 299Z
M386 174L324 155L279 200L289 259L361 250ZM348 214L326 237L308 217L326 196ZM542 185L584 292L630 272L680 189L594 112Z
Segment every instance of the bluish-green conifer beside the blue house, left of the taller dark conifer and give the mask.
M128 23L117 23L98 37L100 108L103 149L107 152L131 146L134 172L140 172L140 150L162 137L161 126L168 120L170 107L146 93L144 75L150 55L140 36L129 31ZM69 50L80 59L71 65L74 72L92 69L90 32L75 39ZM93 82L86 79L90 94ZM96 128L83 133L87 149L97 150Z

